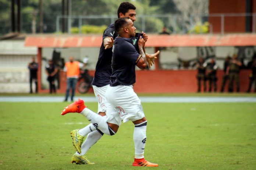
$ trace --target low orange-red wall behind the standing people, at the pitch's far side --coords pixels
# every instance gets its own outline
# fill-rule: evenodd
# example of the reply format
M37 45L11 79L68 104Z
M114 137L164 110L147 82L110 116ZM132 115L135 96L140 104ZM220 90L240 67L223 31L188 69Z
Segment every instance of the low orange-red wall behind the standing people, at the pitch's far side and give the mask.
M95 71L89 71L94 75ZM136 93L194 93L197 91L196 70L157 70L157 71L136 71ZM245 92L249 84L250 70L240 71L240 92ZM220 92L223 70L217 71L217 92ZM60 74L60 89L58 93L64 93L66 88L65 73ZM207 81L208 83L208 81ZM227 92L228 82L224 92ZM235 87L235 86L234 86ZM207 84L208 89L208 84ZM41 90L49 92L49 90ZM93 93L92 88L88 93Z

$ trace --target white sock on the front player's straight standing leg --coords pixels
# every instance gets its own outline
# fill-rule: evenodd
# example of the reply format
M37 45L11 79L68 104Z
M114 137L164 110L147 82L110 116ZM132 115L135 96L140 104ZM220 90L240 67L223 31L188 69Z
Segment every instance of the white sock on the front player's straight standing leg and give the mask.
M136 124L134 127L134 146L135 146L135 158L144 158L144 149L146 143L146 129L147 121Z

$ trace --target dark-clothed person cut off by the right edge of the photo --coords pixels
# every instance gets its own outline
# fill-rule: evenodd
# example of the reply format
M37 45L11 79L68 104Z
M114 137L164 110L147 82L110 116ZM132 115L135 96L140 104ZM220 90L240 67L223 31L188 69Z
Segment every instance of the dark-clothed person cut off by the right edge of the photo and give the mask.
M248 63L247 68L251 69L252 73L249 75L249 86L246 92L250 93L252 84L254 82L254 92L256 93L256 55L254 55L252 60Z

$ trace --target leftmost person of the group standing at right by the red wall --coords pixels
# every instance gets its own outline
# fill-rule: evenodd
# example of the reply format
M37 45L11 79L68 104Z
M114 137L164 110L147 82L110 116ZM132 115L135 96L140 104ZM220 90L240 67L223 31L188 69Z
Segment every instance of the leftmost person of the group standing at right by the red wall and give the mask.
M204 63L204 59L202 57L199 58L198 63L196 64L196 68L198 69L198 74L196 75L198 80L198 92L201 91L201 80L203 81L203 90L206 92L206 63Z

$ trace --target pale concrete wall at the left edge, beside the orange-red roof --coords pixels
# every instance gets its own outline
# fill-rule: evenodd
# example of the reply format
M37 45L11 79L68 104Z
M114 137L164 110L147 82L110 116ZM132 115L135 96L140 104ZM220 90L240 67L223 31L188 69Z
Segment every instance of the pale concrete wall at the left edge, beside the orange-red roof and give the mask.
M36 55L24 40L0 41L0 93L29 93L28 63Z

